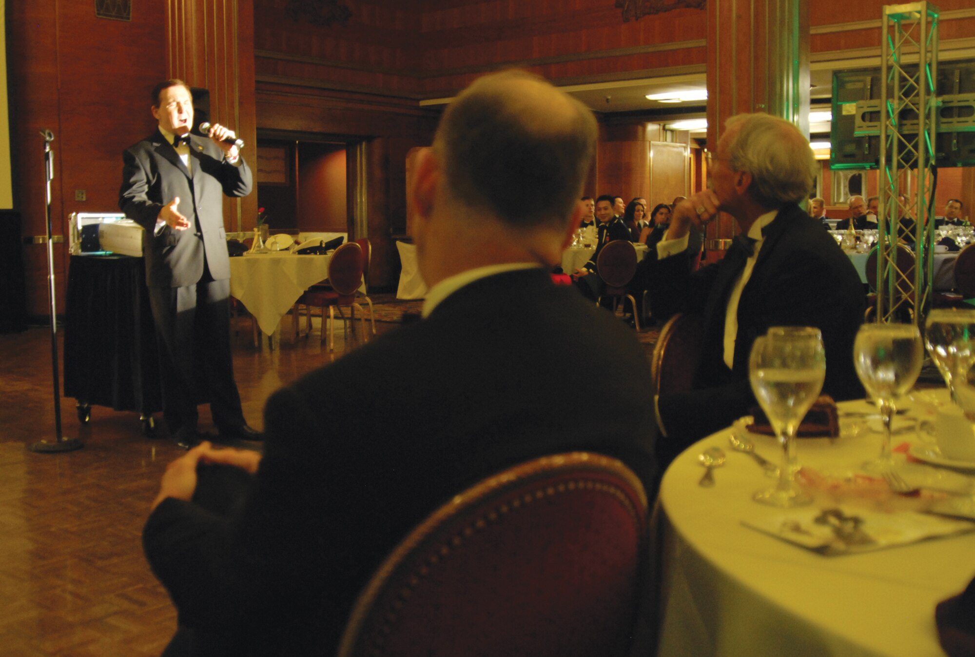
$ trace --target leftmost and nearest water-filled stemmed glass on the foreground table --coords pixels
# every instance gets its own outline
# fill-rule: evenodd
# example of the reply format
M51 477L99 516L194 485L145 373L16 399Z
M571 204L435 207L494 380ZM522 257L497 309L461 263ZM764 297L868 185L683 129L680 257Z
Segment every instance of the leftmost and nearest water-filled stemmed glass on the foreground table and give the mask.
M755 493L757 502L783 508L812 502L796 485L796 433L819 397L825 376L826 352L818 328L769 328L752 345L749 381L782 445L778 482Z

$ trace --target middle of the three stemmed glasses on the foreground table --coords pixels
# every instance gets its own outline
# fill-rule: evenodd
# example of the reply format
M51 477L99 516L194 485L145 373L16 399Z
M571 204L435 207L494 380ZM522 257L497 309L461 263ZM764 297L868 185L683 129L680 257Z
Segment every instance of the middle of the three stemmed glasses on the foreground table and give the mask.
M897 401L914 387L923 361L920 331L913 324L865 324L853 342L853 366L867 392L877 400L883 420L880 456L864 468L890 470L890 422Z

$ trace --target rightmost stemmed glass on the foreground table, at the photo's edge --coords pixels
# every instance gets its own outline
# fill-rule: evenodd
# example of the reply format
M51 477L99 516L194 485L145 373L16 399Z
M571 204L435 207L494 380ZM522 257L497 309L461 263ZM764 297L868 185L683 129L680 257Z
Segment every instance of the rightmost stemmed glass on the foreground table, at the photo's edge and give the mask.
M927 316L924 343L957 404L956 386L965 383L968 370L975 365L975 310L932 310Z

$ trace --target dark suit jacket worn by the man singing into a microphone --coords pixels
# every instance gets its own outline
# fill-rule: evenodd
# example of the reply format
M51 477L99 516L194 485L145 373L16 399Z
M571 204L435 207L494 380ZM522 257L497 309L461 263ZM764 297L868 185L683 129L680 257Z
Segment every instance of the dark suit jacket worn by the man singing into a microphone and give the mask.
M119 208L145 229L146 285L180 288L195 285L204 262L215 281L230 278L223 196L247 196L253 176L243 157L237 165L223 158L213 139L190 135L192 173L176 148L157 130L126 149ZM179 197L177 210L189 220L186 230L164 226L156 234L163 206Z

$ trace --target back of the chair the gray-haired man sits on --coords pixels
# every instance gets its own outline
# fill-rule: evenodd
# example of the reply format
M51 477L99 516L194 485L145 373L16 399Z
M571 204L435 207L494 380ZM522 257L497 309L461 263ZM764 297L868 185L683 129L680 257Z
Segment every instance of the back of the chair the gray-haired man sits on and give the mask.
M660 329L650 359L654 395L693 389L703 341L704 325L699 315L678 313Z

